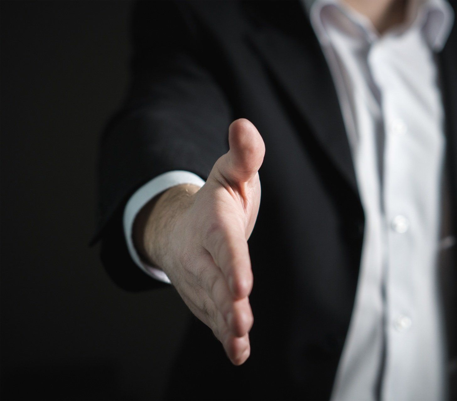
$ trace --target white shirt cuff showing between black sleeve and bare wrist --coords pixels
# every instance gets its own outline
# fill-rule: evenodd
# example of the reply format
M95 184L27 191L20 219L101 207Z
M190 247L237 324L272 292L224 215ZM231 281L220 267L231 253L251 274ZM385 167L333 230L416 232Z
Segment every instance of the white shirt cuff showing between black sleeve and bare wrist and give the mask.
M125 206L123 216L125 240L127 242L128 253L130 253L130 257L133 259L133 262L135 262L135 264L137 264L138 267L149 276L169 284L170 279L163 270L144 263L139 257L138 252L133 245L133 222L142 207L154 198L155 195L159 195L161 192L181 184L193 184L202 187L205 184L205 181L197 174L189 171L175 170L160 174L154 179L151 179L148 183L144 184L131 196Z

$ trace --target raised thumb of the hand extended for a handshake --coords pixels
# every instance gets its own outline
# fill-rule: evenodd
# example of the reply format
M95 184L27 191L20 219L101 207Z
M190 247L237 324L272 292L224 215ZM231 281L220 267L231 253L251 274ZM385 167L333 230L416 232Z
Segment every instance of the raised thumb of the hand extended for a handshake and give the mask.
M265 144L254 124L245 118L228 127L230 150L218 160L218 169L231 184L249 181L255 176L265 156Z

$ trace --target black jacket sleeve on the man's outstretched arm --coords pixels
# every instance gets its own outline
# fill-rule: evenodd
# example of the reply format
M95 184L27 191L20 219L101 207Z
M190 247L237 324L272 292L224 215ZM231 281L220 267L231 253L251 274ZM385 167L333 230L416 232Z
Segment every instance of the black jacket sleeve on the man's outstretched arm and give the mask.
M207 179L228 150L228 100L212 73L210 49L191 3L140 2L133 12L132 83L99 144L98 224L101 261L126 290L165 284L129 256L122 212L144 183L171 170Z

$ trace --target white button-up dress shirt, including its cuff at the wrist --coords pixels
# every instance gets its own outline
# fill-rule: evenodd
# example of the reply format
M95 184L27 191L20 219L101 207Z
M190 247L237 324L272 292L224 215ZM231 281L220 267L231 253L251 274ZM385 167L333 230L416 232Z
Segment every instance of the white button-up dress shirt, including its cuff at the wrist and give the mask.
M359 281L332 400L442 400L444 333L437 283L445 137L434 52L453 23L444 0L408 3L402 26L379 37L336 0L304 1L329 63L365 213ZM150 276L170 282L133 247L138 211L179 184L171 171L128 201L129 252Z

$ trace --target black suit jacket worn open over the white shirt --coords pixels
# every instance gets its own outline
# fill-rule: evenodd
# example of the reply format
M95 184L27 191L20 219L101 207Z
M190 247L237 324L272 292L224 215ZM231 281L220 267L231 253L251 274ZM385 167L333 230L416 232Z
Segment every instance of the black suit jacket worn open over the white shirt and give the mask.
M239 117L255 124L266 145L249 240L250 359L232 366L195 319L169 396L329 398L356 293L364 214L335 87L305 12L298 1L140 3L133 39L131 90L101 138L94 237L102 239L103 264L118 285L163 285L133 264L125 245L122 211L138 187L178 169L206 179ZM438 59L455 211L456 26ZM448 269L443 287L449 331L455 270ZM449 334L454 360L456 338Z

